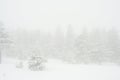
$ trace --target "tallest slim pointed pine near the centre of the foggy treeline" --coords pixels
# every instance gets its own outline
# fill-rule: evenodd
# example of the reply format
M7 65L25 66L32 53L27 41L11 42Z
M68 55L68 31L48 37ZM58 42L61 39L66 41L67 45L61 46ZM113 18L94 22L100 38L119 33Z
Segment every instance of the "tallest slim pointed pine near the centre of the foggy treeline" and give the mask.
M65 34L65 53L64 59L69 61L70 63L74 63L75 53L74 53L74 42L75 42L75 34L73 30L73 26L69 24L66 29Z

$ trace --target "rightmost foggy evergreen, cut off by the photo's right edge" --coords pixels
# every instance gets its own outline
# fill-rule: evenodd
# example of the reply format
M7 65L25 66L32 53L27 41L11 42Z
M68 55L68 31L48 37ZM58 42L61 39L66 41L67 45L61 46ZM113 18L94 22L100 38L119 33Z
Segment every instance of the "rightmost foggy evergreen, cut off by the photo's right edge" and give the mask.
M108 32L108 47L112 53L110 60L113 62L120 62L120 38L117 28L112 28Z

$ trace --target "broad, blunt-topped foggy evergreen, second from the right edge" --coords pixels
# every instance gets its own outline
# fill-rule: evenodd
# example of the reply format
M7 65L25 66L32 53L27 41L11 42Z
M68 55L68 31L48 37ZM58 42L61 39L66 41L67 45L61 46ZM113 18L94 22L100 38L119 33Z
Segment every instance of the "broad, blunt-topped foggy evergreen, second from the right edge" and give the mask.
M89 55L91 62L101 63L108 61L110 51L106 40L106 31L103 29L94 29L89 35Z

